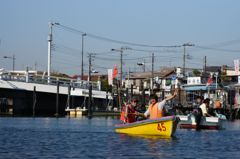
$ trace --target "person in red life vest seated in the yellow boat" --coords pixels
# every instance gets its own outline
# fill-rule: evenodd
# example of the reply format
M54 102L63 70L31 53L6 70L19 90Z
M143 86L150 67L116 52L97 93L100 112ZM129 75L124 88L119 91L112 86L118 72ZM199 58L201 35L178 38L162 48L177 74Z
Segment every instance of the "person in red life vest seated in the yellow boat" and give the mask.
M125 123L132 123L136 121L136 115L138 112L136 111L138 100L136 98L132 98L131 103L124 103L120 120Z

